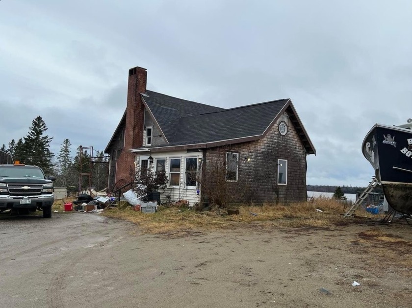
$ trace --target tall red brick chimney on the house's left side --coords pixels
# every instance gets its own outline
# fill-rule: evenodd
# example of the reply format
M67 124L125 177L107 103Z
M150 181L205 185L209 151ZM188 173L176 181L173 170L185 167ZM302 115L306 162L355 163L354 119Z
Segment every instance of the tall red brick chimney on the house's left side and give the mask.
M134 168L134 154L130 150L143 146L145 107L140 93L146 93L146 83L146 69L135 67L129 70L125 146L117 161L116 182L121 179L130 182L130 170Z

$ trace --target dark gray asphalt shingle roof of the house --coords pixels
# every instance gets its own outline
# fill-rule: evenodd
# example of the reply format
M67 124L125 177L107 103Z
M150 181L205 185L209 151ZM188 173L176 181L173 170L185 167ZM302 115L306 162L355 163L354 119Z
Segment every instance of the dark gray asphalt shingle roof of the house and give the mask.
M223 109L147 91L147 106L169 145L215 142L264 133L288 99Z

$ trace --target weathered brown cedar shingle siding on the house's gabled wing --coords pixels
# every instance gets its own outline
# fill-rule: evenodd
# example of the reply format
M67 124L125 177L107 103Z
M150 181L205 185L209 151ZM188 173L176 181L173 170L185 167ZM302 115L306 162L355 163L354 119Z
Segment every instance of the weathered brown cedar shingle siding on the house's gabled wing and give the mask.
M285 136L279 133L281 121L287 124ZM238 181L228 184L229 193L239 197L237 201L306 200L306 150L287 116L278 119L263 139L207 149L206 170L207 166L224 160L228 150L239 152ZM247 157L251 160L246 161ZM278 185L278 159L287 160L287 185Z

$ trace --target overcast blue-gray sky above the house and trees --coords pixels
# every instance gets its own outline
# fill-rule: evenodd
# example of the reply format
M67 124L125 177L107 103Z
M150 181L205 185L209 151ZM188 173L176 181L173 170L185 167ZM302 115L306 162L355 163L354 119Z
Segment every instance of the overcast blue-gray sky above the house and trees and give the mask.
M367 186L361 143L412 118L410 0L0 0L0 146L41 116L57 153L104 150L130 68L222 108L290 98L316 148L307 184Z

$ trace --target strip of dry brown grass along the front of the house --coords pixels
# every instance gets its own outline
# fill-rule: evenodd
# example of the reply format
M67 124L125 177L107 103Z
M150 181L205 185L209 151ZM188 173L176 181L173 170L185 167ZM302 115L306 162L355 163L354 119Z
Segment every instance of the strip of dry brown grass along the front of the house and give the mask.
M130 206L125 209L106 209L103 214L139 224L144 232L155 234L186 234L207 229L228 229L254 222L276 222L277 226L316 228L353 221L341 215L345 212L342 203L322 197L315 199L315 203L264 204L236 208L239 210L238 215L227 215L226 210L222 209L197 212L187 208L160 208L156 213L146 214L133 211ZM317 212L316 209L322 212ZM368 215L364 212L364 216Z

